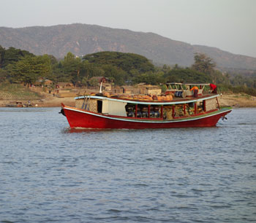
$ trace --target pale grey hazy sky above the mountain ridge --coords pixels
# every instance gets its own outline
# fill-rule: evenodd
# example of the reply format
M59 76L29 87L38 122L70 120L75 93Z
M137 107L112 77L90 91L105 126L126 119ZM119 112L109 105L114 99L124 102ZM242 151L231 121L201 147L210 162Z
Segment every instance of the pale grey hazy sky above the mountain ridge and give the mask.
M4 27L83 23L256 58L256 0L0 0L0 5Z

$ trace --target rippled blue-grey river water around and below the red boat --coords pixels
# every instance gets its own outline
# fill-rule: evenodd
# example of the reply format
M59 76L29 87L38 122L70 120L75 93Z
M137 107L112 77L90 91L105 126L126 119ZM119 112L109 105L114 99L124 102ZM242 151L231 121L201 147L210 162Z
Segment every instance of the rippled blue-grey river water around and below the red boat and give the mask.
M256 109L217 128L70 130L0 108L0 222L255 222Z

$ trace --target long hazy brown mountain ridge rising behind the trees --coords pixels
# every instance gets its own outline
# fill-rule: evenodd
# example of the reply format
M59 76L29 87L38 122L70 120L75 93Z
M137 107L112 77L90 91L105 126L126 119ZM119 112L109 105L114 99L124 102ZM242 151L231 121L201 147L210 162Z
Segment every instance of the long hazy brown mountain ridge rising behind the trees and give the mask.
M206 53L222 70L256 70L256 58L234 55L214 47L187 44L158 34L86 24L0 27L0 45L28 50L35 55L64 58L67 52L86 55L99 51L133 52L154 63L190 66L195 52Z

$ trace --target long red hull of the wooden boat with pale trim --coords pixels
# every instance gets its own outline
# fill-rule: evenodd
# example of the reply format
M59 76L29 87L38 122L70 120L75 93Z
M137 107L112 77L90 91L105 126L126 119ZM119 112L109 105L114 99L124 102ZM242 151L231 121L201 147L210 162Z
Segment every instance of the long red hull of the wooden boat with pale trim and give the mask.
M221 117L225 117L231 109L222 109L208 114L176 120L132 119L96 114L91 111L63 106L70 128L194 128L213 127Z

